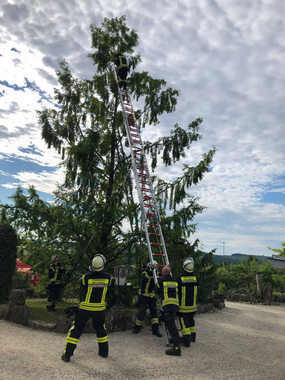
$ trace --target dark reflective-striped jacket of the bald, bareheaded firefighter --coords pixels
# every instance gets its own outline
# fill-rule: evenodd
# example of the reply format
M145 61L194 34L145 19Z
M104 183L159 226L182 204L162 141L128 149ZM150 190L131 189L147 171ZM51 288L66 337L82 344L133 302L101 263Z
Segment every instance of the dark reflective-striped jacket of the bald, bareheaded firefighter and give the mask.
M154 291L155 294L161 299L163 312L168 313L170 311L178 311L178 286L177 282L170 274L167 274L166 276L162 277L162 279L158 280Z

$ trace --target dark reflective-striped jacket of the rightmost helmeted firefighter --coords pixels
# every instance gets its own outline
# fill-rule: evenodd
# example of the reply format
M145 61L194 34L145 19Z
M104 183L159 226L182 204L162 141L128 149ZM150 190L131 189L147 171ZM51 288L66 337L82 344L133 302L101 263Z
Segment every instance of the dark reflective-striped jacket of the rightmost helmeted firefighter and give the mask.
M177 277L179 312L190 313L197 310L196 298L199 281L195 273L183 271Z

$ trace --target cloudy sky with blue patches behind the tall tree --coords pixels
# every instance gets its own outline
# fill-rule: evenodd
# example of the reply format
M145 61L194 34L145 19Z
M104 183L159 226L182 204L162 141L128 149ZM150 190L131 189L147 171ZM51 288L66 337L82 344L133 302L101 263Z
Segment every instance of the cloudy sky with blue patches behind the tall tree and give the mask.
M74 76L92 78L89 24L126 14L147 70L181 91L176 112L143 131L154 140L174 123L203 117L203 140L157 174L173 180L213 144L212 171L190 193L206 251L269 255L285 239L283 0L0 0L0 199L34 184L51 201L64 173L41 140L36 110L55 108L54 70L66 57ZM133 106L136 107L135 103Z

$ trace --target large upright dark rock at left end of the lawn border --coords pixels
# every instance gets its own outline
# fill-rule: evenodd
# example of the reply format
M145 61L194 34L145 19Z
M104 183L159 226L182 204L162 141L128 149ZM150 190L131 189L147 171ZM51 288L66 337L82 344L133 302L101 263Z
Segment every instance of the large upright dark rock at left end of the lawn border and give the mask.
M31 315L28 306L25 305L25 301L25 290L13 290L10 296L8 311L4 319L17 323L18 325L28 326Z

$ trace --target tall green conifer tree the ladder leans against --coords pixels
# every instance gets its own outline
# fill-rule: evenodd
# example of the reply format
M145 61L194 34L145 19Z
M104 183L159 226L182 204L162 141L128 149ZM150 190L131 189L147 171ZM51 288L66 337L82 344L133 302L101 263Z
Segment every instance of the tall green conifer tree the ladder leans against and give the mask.
M142 105L142 110L136 111L139 128L147 123L157 125L163 113L175 111L179 96L179 91L167 87L164 79L136 71L142 62L139 53L133 55L139 36L135 29L127 27L125 16L105 18L100 27L91 24L90 30L94 51L88 57L96 68L93 78L75 78L63 59L56 71L59 89L54 90L60 108L38 111L47 148L53 147L61 154L64 184L57 186L53 203L44 202L30 186L28 196L19 187L10 197L13 206L2 205L7 220L22 234L21 249L28 252L25 263L41 275L41 283L36 287L41 291L46 287L49 258L55 251L67 269L76 268L65 291L72 294L77 291L78 277L86 272L95 253L106 257L108 271L121 263L138 268L140 231L128 231L124 225L130 216L139 217L139 208L129 202L134 187L131 176L122 186L130 168L130 155L120 146L120 142L127 145L127 138L112 68L117 52L130 55L128 91ZM202 121L197 118L185 129L175 124L170 136L144 142L153 170L161 153L166 166L184 158L191 144L202 138ZM164 233L169 237L167 244L181 255L180 244L195 231L196 225L191 222L204 209L198 204L199 199L186 190L209 171L215 151L212 147L204 153L196 166L183 165L183 175L171 183L154 176L162 225L165 223ZM171 216L165 215L167 206L174 210ZM93 233L94 238L80 260Z

